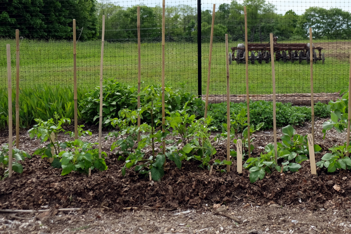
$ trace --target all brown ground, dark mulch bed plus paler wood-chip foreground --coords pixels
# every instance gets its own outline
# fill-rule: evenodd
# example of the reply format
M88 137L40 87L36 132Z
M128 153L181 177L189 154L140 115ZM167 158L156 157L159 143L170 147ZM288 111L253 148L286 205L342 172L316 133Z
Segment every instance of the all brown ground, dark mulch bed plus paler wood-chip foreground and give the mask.
M324 121L315 122L315 143L323 148L316 154L316 161L329 147L345 141L345 134L334 130L323 140ZM310 126L310 123L297 126L296 133L309 133ZM90 126L90 129L93 136L82 140L96 142L97 128ZM107 133L104 131L103 137ZM7 135L6 131L1 133L0 145L8 142ZM260 131L253 137L253 156L258 156L267 143L273 142L272 131ZM67 138L67 135L59 136L59 140ZM123 162L109 150L113 140L104 140L102 145L108 153L107 171L93 170L90 177L77 172L61 176L60 169L34 156L23 163L22 174L14 173L12 178L0 181L0 209L51 208L51 212L41 215L0 214L0 232L351 233L351 176L346 170L328 173L318 168L318 175L311 175L309 161L304 161L298 172L273 172L251 184L246 170L243 174L236 172L236 161L231 172L216 171L211 176L196 162L185 162L179 170L167 161L169 170L164 177L159 182L150 182L148 177L133 170L127 170L126 176L122 176ZM25 130L21 131L21 149L33 153L40 145L39 140L31 140ZM215 157L224 159L226 141L218 142L216 149ZM226 204L227 213L242 221L246 219L245 223L237 225L227 217L215 215L211 209L214 204ZM272 204L280 207L272 208ZM83 211L56 211L66 207L81 207ZM128 207L137 208L125 211ZM174 215L181 210L195 211L188 216ZM252 229L262 232L250 232Z

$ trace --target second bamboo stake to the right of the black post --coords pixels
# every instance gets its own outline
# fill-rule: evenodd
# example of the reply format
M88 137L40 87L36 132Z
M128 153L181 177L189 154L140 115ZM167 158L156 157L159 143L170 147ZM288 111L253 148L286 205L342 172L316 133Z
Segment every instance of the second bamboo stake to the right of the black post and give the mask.
M226 34L226 65L227 65L227 160L230 161L230 99L229 99L229 61L228 61L228 34ZM207 86L209 87L209 86ZM207 96L206 96L207 98ZM230 172L230 165L227 165Z

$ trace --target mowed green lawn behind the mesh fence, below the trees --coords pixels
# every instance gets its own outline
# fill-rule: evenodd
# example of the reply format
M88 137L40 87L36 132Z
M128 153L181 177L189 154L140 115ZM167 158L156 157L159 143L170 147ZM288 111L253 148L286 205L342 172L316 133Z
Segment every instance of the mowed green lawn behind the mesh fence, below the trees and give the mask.
M0 40L0 88L7 88L6 44L11 44L13 87L16 80L16 45L14 40ZM295 42L294 42L295 43ZM300 43L303 43L302 41ZM307 41L305 42L307 43ZM318 46L318 42L315 42ZM330 44L328 44L330 43ZM236 47L238 42L229 43ZM348 42L321 41L326 59L313 65L314 92L338 92L348 85ZM202 45L202 89L206 93L209 43ZM210 94L226 94L225 43L214 43L211 66ZM73 84L73 43L21 42L20 87L39 84ZM78 86L93 88L99 84L101 42L77 43ZM340 56L341 55L341 56ZM344 55L344 56L343 56ZM104 79L113 78L130 85L137 84L137 44L135 40L106 41ZM161 82L161 44L141 44L141 80L146 84ZM166 42L165 80L176 88L198 93L198 52L196 43ZM306 62L275 63L277 93L309 93L310 66ZM230 93L245 94L245 64L230 65ZM271 64L249 62L250 94L272 93Z

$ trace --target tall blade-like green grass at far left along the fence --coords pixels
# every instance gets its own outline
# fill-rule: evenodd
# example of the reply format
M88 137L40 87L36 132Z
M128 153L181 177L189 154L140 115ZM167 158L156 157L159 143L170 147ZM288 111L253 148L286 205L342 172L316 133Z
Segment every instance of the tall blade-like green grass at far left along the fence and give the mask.
M78 89L78 103L84 98L87 89ZM16 90L12 92L13 119L16 119ZM67 86L38 85L35 88L20 90L20 127L28 128L35 119L47 120L57 112L61 117L74 118L73 89ZM5 128L9 121L8 92L0 89L0 128ZM78 108L78 120L81 110Z

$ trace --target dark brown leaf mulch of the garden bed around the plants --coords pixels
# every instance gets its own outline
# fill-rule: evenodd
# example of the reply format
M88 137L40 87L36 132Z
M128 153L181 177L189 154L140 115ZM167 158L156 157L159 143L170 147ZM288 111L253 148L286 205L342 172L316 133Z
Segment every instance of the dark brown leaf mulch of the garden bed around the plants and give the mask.
M316 161L333 144L345 141L345 134L336 131L327 133L322 139L321 124L315 123L315 143L323 148L316 155ZM90 126L93 136L84 137L86 141L97 141L97 129ZM295 127L296 133L307 134L310 123ZM40 145L38 140L30 140L25 131L21 131L20 148L29 153ZM104 132L105 136L108 132ZM0 144L7 143L6 132L0 137ZM281 129L278 131L278 137ZM255 150L253 156L263 151L264 146L273 142L272 131L260 131L254 134ZM60 136L61 139L67 138ZM164 177L159 182L149 181L148 177L127 170L122 176L124 162L117 160L110 152L111 140L103 140L103 150L108 153L108 170L92 171L90 177L77 172L61 176L61 169L52 168L46 160L38 156L27 159L23 174L14 173L10 179L0 181L0 208L38 209L51 207L109 207L116 211L124 207L147 205L162 208L200 208L205 203L250 202L252 205L278 203L287 206L306 206L308 209L347 208L351 195L350 174L347 170L327 173L326 169L317 169L317 175L311 175L309 161L302 163L302 168L295 173L280 174L277 171L266 174L263 180L250 183L249 173L236 172L236 161L229 173L215 172L209 176L208 170L199 168L196 162L183 162L178 169L173 162L167 161ZM232 148L235 146L232 145ZM226 157L226 141L217 146L216 158Z

